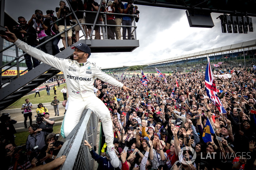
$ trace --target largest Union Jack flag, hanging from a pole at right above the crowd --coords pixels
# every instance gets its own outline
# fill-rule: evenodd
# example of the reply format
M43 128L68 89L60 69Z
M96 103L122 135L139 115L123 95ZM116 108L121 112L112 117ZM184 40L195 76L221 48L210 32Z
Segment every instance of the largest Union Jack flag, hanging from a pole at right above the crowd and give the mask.
M210 98L212 103L218 108L220 113L227 113L224 109L219 97L217 96L217 87L215 84L215 81L212 76L212 69L210 65L210 60L208 59L208 64L206 66L205 70L205 90L207 93L207 96Z

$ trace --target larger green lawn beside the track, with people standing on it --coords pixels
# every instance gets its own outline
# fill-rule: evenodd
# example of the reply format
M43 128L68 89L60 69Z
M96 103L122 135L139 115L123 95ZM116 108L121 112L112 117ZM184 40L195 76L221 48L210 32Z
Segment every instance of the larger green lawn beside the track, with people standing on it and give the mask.
M26 103L25 99L29 99L29 102L31 102L32 104L38 104L38 103L48 103L48 102L52 102L53 97L57 96L57 99L59 99L60 101L63 101L63 94L62 92L60 92L61 89L63 89L64 86L67 87L66 83L61 84L60 87L57 86L57 95L54 95L54 90L50 90L50 95L47 95L46 90L42 90L39 91L40 92L40 97L38 96L38 94L35 97L35 93L23 96L22 98L20 98L19 100L15 101L14 103L12 103L11 107L9 107L8 109L14 109L14 108L21 108L21 106ZM53 87L52 87L53 89Z

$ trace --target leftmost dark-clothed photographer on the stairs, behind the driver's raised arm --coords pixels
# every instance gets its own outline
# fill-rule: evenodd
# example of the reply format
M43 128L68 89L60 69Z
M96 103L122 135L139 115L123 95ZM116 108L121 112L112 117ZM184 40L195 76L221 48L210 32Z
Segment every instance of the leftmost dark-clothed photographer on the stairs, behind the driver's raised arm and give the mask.
M20 39L21 41L28 43L28 45L30 45L32 47L36 47L37 46L37 41L36 41L37 35L36 35L35 28L33 26L29 26L24 17L21 17L21 16L18 17L18 22L20 23L20 25L13 26L13 31L14 31L15 35L17 36L17 38ZM23 51L23 53L25 53L25 52ZM32 57L32 60L33 60L33 64L32 64L31 57L32 56L30 56L28 54L24 55L26 65L28 67L28 71L32 70L33 66L35 68L36 66L39 65L39 61L34 57Z

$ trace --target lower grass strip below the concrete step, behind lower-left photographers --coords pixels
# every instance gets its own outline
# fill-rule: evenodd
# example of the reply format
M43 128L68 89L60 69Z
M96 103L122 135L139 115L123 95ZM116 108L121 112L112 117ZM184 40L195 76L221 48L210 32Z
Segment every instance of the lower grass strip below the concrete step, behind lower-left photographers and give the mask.
M51 94L50 94L50 96L51 96ZM61 125L56 125L56 126L53 125L53 133L55 133L55 134L60 133L60 128L61 128ZM19 133L14 134L14 136L16 136L15 137L16 146L25 144L27 141L28 135L29 135L28 130L25 132L19 132Z

